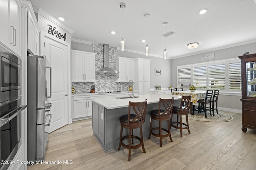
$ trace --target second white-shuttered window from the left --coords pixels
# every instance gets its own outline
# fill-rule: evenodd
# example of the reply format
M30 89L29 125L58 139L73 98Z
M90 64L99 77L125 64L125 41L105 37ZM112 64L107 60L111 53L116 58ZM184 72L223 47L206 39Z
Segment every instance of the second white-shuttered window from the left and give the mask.
M194 66L193 68L193 85L196 89L206 89L207 87L207 68L205 66Z

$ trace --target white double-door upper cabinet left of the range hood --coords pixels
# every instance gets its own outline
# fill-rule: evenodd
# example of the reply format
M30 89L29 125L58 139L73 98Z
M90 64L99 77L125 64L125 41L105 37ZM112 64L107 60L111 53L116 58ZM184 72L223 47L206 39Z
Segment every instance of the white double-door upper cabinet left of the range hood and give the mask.
M72 50L72 82L95 82L95 55Z

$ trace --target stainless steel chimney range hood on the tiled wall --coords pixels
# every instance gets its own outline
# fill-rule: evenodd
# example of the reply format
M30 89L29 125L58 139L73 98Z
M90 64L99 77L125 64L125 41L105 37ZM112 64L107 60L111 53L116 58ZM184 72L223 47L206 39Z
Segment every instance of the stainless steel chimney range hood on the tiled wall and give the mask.
M108 51L109 45L103 44L103 68L101 70L98 70L97 72L100 73L119 73L118 71L109 68L109 51Z

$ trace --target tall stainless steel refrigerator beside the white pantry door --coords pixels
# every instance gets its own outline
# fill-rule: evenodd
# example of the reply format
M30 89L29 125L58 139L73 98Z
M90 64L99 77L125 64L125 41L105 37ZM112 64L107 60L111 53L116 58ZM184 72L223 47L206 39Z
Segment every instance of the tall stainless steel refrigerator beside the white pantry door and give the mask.
M44 160L46 58L28 55L28 161ZM45 143L46 142L46 143Z

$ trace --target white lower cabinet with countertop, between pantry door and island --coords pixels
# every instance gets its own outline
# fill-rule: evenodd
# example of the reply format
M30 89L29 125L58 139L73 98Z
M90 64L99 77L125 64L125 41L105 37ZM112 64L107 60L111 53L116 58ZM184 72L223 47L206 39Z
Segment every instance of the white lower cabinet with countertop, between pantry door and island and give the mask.
M100 95L74 96L73 97L73 119L89 118L92 116L91 98L100 98Z

